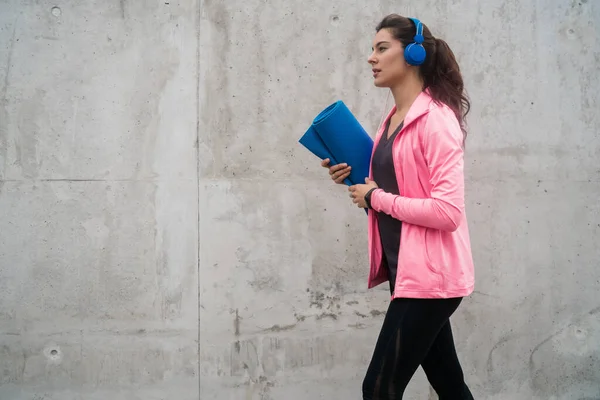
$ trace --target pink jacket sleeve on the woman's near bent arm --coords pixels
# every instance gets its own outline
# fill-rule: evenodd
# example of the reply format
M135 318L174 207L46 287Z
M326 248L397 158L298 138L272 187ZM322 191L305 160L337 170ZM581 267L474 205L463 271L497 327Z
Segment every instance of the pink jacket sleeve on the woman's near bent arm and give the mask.
M371 206L400 221L453 232L463 220L464 158L462 131L458 122L430 115L422 148L429 170L429 198L408 198L377 189L371 194Z

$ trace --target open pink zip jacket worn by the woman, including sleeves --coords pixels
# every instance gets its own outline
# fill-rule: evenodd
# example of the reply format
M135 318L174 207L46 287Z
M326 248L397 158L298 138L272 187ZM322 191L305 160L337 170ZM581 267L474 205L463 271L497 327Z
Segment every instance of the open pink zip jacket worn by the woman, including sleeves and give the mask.
M385 122L395 111L394 106ZM377 132L375 146L385 125ZM402 221L394 298L463 297L473 292L462 138L452 110L436 104L424 91L411 106L394 140L400 195L382 189L371 195L375 211ZM388 280L374 214L369 211L369 288Z

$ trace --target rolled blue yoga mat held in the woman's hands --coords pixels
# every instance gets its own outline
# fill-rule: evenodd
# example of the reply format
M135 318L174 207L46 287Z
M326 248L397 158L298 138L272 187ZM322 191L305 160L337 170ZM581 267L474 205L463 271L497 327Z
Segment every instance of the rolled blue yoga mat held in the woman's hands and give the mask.
M330 166L351 166L352 171L344 180L348 186L365 183L369 176L373 139L343 101L321 111L299 142L321 160L329 158Z

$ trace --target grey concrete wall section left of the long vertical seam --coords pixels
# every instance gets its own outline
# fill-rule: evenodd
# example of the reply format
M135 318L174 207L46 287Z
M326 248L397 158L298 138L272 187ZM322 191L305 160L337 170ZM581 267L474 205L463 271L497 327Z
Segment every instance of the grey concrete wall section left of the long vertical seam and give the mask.
M197 399L198 5L0 4L0 399Z

